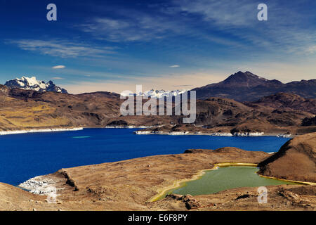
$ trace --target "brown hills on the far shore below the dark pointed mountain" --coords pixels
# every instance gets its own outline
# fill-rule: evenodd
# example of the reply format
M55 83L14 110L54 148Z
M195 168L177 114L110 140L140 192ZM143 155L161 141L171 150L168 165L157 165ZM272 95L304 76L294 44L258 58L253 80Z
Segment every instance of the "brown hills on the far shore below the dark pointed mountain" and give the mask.
M164 127L146 130L303 134L315 130L312 124L304 127L303 130L300 128L305 117L312 118L313 115L297 110L276 110L265 105L248 106L228 98L208 98L197 101L195 126L181 124L182 117L180 117L175 124L165 124Z

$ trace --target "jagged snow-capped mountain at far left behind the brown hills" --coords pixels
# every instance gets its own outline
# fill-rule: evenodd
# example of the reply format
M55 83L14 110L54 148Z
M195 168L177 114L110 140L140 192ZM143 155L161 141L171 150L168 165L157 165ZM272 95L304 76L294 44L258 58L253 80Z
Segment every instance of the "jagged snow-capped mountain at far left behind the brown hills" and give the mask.
M25 90L34 90L34 91L53 91L58 93L68 92L65 89L56 86L51 80L47 83L44 81L38 81L36 77L22 77L21 79L15 78L11 79L4 84L10 88L18 88Z

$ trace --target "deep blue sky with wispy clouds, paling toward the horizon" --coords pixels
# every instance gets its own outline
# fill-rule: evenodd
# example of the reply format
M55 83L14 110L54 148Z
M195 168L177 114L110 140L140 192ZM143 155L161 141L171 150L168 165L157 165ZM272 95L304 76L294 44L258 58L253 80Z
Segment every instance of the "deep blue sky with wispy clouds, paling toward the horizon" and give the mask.
M50 3L57 21L46 20ZM257 19L261 3L268 21ZM314 0L0 4L1 84L33 75L81 93L191 89L238 70L282 82L316 78Z

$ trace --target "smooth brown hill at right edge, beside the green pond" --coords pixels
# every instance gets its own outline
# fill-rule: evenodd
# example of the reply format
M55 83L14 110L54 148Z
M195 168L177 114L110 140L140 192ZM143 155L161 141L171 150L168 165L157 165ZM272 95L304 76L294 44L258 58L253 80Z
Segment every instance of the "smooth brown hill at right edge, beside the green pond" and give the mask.
M295 181L316 182L316 133L295 137L259 163L259 174Z

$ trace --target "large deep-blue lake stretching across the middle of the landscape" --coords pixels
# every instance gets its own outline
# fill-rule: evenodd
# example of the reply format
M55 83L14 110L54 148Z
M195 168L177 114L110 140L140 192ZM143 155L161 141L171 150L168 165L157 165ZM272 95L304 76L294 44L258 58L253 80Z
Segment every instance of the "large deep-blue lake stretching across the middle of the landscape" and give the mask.
M237 147L275 152L289 139L274 136L136 135L137 129L84 129L0 136L0 182L18 185L58 169L115 162L189 148Z

